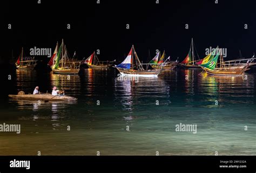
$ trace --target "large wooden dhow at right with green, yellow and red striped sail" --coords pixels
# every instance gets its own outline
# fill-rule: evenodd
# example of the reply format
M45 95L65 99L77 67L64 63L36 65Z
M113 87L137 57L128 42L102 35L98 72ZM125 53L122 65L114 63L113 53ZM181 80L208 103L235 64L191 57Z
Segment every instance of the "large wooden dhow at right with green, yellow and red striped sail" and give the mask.
M220 63L217 63L220 57ZM218 66L217 66L218 64ZM221 76L240 76L249 67L248 64L237 64L236 66L226 66L223 60L221 48L215 48L211 54L207 55L198 65L203 68L207 74Z

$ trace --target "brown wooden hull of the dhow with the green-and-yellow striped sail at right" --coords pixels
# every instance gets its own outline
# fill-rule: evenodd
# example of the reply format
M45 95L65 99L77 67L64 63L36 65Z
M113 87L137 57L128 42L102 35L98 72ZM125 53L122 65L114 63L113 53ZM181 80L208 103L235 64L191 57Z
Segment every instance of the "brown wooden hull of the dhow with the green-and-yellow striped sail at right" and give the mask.
M201 67L205 70L207 74L210 75L221 75L221 76L240 76L244 74L248 66L242 68L215 68L214 70Z

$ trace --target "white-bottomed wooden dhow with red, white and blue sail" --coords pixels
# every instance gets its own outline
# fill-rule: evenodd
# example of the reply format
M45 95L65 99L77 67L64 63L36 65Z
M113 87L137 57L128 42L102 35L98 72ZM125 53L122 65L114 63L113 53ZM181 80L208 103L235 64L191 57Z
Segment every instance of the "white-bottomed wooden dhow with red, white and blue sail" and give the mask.
M118 64L117 66L114 66L121 75L127 75L127 76L142 76L142 77L157 77L162 69L150 69L145 70L142 66L142 63L140 63L139 57L134 49L134 46L132 45L131 51L127 55L126 59Z

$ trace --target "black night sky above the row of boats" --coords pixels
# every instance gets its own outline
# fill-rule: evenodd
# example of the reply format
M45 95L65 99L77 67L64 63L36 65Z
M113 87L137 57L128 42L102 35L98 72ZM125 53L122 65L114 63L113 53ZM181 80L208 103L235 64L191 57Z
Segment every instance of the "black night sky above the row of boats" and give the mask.
M239 55L251 57L256 51L256 1L219 0L96 0L1 2L1 53L15 57L24 47L52 48L64 39L69 53L78 58L100 49L100 60L122 61L133 44L141 60L147 60L148 49L156 49L175 60L184 59L194 38L200 57L205 48L227 48L228 59ZM8 24L12 29L8 30ZM71 24L71 30L66 28ZM126 30L130 24L130 30ZM185 30L185 24L189 29ZM248 24L248 29L244 29ZM49 60L46 56L37 57Z

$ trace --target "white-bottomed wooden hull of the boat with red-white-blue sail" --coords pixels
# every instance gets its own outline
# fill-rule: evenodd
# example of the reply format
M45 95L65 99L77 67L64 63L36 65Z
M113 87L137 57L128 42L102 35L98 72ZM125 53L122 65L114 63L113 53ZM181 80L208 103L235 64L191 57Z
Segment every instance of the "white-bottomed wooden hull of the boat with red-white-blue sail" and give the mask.
M161 72L161 69L151 70L151 71L139 71L139 70L118 68L118 67L116 68L121 75L127 75L127 76L157 77Z

